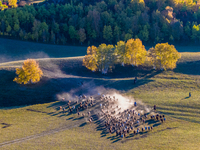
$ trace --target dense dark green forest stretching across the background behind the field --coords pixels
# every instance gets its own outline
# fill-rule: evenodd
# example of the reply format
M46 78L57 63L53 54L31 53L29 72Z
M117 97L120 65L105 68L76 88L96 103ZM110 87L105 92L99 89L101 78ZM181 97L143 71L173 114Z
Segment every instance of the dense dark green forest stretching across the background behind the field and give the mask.
M52 44L200 41L199 0L49 0L0 12L0 35Z

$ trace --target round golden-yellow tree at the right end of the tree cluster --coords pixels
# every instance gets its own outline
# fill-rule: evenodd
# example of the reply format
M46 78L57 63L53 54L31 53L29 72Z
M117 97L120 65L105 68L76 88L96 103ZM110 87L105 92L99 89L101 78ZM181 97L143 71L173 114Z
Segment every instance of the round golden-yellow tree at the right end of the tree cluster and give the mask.
M149 49L148 56L154 68L161 70L176 68L176 62L181 58L174 45L168 43L156 44L155 48Z

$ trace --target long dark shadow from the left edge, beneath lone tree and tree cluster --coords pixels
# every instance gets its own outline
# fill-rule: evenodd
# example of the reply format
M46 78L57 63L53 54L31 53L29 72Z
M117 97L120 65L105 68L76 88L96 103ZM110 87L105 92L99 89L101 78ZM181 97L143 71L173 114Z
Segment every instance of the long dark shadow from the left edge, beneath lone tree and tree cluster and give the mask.
M84 69L84 67L82 69ZM91 76L91 78L47 78L44 76L41 79L41 81L37 84L19 85L13 82L13 79L16 77L15 70L0 70L0 107L48 103L57 100L57 94L67 93L72 90L75 91L74 94L76 95L85 93L90 94L90 91L98 86L103 86L105 88L111 88L122 92L126 92L130 89L153 81L148 78L159 73L148 69L142 70L129 68L127 70L131 70L130 72L124 72L122 70L121 74L113 72L107 75L108 78L103 77L103 75L98 75L98 77L100 78L94 79L93 77L95 77L95 73L92 73L88 70L85 70L84 72L81 69L79 70L78 68L73 68L73 70L77 70L78 72L81 71L81 75L84 76L87 76L87 74L89 73L89 76ZM138 82L134 84L134 76L144 77L144 79L138 80ZM119 78L113 79L115 77ZM81 87L78 84L80 81L83 81L85 86ZM53 105L50 107L54 107Z

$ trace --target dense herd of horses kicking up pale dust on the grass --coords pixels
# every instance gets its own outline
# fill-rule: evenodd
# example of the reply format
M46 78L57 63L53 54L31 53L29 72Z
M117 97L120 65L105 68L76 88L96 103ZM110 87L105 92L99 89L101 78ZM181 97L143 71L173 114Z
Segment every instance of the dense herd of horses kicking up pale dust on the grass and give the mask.
M65 99L63 98L63 101ZM153 129L150 122L166 121L165 115L156 111L156 105L152 109L142 109L140 103L136 101L130 103L127 109L123 108L123 103L115 96L98 94L97 96L79 95L76 100L67 101L67 106L60 106L60 111L76 113L79 117L86 117L88 122L94 121L93 116L98 116L105 130L116 136L126 137L128 134L134 135L147 132Z

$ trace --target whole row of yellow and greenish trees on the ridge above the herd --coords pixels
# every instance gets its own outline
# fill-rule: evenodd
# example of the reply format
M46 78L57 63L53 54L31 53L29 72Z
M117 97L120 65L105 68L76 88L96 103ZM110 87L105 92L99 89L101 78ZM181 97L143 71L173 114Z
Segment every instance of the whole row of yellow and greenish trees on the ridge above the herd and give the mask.
M89 46L83 65L91 71L106 74L112 71L116 64L132 66L151 66L154 69L174 69L181 54L173 45L159 43L146 51L140 39L119 41L115 46L101 44L98 47Z

